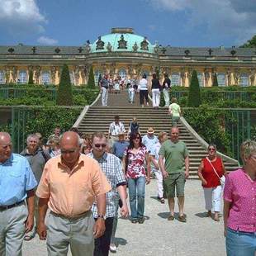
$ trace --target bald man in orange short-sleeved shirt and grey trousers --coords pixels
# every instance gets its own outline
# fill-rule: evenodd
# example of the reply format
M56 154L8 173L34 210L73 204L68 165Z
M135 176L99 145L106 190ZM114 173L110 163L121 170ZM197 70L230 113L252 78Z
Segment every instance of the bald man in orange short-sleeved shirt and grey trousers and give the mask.
M46 164L36 191L39 197L38 234L46 239L48 255L93 255L94 239L105 231L106 193L111 190L97 161L79 153L79 137L65 132L61 155ZM97 221L92 203L97 201ZM45 225L45 214L50 209ZM47 226L47 232L46 232Z

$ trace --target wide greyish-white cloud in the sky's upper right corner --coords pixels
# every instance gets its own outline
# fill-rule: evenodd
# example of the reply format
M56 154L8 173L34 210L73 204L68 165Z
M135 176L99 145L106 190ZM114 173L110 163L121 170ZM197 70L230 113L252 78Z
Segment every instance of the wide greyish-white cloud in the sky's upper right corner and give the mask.
M206 37L244 43L256 34L256 1L146 0L162 11L183 12L185 28L206 27Z

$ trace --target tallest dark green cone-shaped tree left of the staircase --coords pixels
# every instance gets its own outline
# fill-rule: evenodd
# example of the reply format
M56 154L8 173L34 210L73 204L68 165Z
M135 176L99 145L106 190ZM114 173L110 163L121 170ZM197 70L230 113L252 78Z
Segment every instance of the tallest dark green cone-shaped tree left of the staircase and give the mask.
M70 83L69 67L64 64L60 76L59 88L57 92L56 104L62 106L72 106L73 105L73 94L72 87Z

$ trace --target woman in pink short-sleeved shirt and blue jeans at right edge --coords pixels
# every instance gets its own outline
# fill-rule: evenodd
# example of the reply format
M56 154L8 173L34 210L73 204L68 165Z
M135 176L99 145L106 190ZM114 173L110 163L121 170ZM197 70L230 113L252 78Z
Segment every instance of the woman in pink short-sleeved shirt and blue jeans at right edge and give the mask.
M228 256L256 255L256 141L241 145L243 168L230 173L224 189L224 235Z

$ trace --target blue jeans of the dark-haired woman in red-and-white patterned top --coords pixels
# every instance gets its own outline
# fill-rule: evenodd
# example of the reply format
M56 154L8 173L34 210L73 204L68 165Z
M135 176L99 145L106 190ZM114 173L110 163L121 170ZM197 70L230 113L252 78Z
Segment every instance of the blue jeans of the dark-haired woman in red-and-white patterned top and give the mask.
M128 179L130 212L132 219L138 219L144 216L145 183L145 177Z

